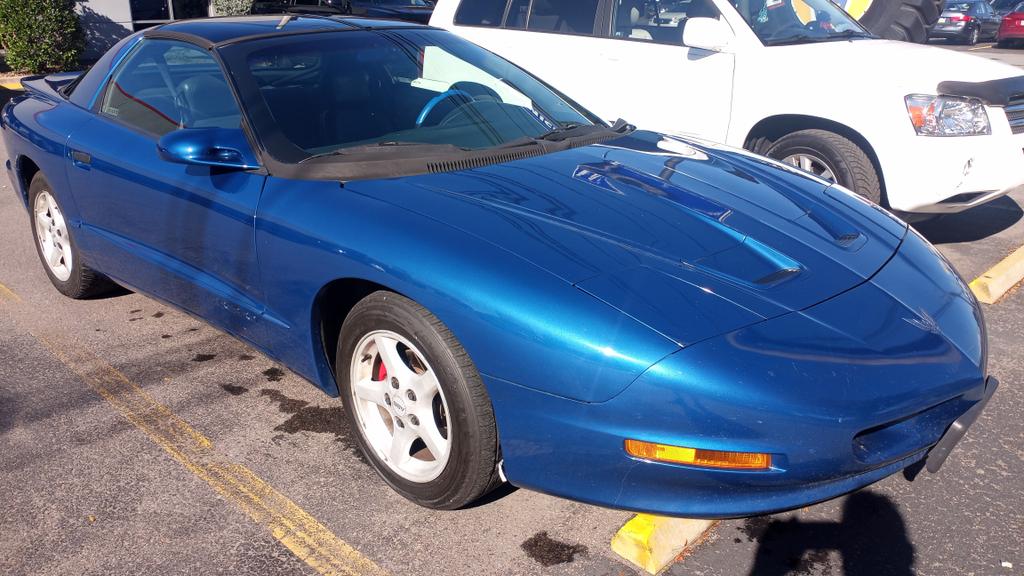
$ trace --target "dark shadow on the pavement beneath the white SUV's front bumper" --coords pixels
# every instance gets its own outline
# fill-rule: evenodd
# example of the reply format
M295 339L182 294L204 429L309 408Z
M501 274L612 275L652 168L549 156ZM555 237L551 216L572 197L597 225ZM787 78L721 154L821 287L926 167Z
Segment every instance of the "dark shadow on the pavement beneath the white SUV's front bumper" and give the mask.
M916 222L913 228L932 244L974 242L998 234L1024 217L1017 201L1004 196L958 214L945 214Z

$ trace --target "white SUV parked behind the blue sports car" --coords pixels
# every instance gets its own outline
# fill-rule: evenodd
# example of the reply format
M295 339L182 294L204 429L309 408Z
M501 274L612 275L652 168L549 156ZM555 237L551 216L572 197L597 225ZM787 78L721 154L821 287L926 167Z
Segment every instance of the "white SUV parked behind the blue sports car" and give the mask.
M903 212L1024 188L1024 76L828 0L439 0L430 24L606 119L776 158Z

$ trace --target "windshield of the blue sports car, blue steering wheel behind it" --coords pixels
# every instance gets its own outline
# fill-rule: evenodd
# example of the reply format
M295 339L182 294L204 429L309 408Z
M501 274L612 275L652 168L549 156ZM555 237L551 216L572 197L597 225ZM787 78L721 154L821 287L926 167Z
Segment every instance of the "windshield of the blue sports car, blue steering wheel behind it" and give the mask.
M233 48L246 49L224 53L246 74L240 92L279 159L408 145L482 150L599 122L444 31L306 34Z

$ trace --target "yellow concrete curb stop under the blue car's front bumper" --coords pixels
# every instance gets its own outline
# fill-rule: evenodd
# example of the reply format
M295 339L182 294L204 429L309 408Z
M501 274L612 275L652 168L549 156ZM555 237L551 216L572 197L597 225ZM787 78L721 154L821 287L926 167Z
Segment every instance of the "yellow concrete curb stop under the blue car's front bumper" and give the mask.
M718 521L637 515L611 538L611 549L648 574L668 568Z

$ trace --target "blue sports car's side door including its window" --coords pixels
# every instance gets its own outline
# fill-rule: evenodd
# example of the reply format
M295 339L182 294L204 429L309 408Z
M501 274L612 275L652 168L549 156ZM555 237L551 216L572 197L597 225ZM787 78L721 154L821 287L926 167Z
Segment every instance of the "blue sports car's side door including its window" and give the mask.
M142 40L70 140L69 174L83 244L116 280L247 335L263 310L253 219L265 175L164 160L181 128L241 129L209 50Z

